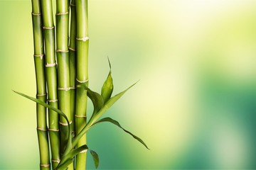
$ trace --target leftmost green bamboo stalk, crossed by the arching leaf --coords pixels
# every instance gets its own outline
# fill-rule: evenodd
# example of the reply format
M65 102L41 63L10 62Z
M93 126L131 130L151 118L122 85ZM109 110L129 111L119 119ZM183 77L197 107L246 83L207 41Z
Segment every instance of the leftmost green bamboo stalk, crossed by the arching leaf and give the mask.
M43 51L43 29L41 6L39 0L32 0L33 44L34 62L36 69L36 98L46 102L46 76L45 59ZM38 145L40 152L40 169L50 170L50 156L48 144L48 131L46 120L46 108L36 104Z

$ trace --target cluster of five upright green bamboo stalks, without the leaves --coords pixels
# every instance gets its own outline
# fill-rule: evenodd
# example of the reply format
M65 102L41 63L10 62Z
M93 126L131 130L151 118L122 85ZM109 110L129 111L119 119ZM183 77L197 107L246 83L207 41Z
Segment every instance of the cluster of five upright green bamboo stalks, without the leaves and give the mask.
M65 156L69 128L75 137L86 125L88 85L87 0L56 1L55 24L52 0L32 0L36 98L65 113L37 103L40 169L56 169ZM68 122L69 121L69 122ZM75 147L86 145L86 134ZM76 162L76 164L73 164ZM80 152L68 169L84 170L86 152Z

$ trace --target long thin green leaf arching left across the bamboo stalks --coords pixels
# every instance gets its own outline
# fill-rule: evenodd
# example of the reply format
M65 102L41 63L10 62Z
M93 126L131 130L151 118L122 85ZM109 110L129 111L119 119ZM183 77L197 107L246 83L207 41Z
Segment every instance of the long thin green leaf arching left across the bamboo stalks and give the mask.
M63 118L65 118L65 120L67 121L68 123L68 144L66 145L66 150L67 151L70 151L72 149L72 138L71 138L71 130L70 130L70 123L69 123L69 120L68 120L68 117L65 115L65 113L63 113L62 111L60 111L58 108L54 108L53 106L50 106L46 103L44 103L43 101L37 99L37 98L33 98L31 96L27 96L26 94L22 94L18 91L14 91L16 94L19 94L25 98L28 98L30 99L31 101L35 101L36 103L42 105L42 106L45 106L46 108L50 108L51 110L57 112L58 114L60 114L61 116L63 116ZM66 153L66 152L65 152ZM65 155L65 154L64 154Z

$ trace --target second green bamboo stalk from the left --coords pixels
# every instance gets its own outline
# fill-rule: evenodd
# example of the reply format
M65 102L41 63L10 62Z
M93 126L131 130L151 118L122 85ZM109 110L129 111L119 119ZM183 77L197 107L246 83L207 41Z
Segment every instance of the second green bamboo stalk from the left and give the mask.
M41 1L43 14L43 30L46 48L46 79L48 88L48 103L58 108L57 70L55 62L55 29L53 23L53 6L51 0ZM49 113L49 136L52 153L53 169L60 162L60 135L58 125L58 113L48 109Z

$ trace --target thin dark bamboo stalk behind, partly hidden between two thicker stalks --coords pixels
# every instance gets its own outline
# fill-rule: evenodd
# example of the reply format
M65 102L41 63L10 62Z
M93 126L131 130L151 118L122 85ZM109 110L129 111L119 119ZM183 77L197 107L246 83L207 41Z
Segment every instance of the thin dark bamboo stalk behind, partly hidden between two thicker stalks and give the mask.
M75 78L76 78L76 10L75 0L71 1L71 21L70 21L70 45L69 60L70 60L70 120L74 122L75 119ZM75 135L75 123L71 124L72 133Z

